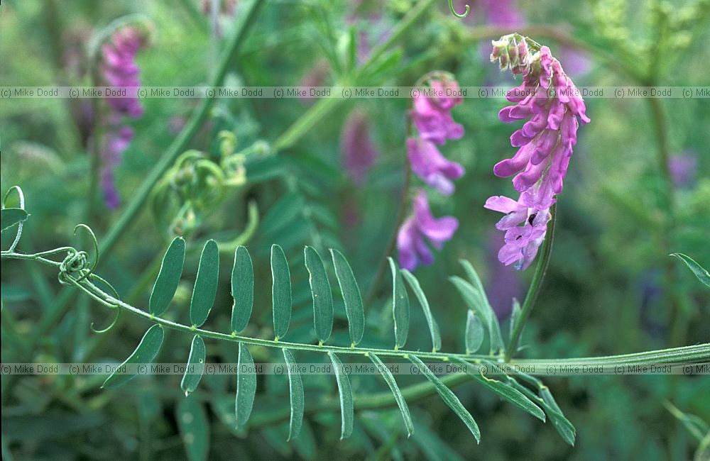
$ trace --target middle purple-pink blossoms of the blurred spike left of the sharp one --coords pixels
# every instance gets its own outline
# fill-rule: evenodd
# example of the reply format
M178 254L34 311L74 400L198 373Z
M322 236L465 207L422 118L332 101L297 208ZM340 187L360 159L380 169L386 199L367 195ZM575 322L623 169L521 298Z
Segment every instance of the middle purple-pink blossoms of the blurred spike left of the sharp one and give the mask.
M407 157L412 171L427 185L444 195L454 193L452 179L464 175L464 167L447 160L431 141L422 138L407 139Z

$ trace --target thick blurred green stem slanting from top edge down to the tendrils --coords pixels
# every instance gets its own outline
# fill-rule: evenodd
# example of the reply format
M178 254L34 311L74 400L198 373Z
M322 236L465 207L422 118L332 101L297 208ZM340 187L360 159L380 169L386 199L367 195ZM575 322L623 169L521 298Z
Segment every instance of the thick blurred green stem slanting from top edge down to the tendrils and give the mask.
M211 87L218 87L219 84L222 83L222 80L224 80L224 76L229 70L231 62L239 52L242 43L244 43L247 30L249 30L249 27L254 22L253 18L264 3L265 2L262 0L253 0L244 8L240 22L236 26L236 31L227 45L224 55L222 55L222 60L219 62L217 73L214 75L212 82L210 82ZM119 238L126 233L126 229L136 221L136 217L143 209L143 205L146 203L146 200L148 200L148 196L151 194L153 187L160 180L160 177L163 176L165 171L173 165L175 159L185 150L187 144L190 143L190 140L192 140L197 133L197 130L200 129L202 122L207 118L212 104L214 104L214 98L206 97L202 100L202 103L195 113L192 114L185 128L182 128L178 137L175 138L168 150L160 157L160 160L158 160L153 170L151 170L148 177L143 181L141 187L136 191L136 194L133 195L133 199L131 199L131 202L126 206L126 209L121 214L118 221L116 221L114 226L111 226L109 233L103 240L104 245L101 250L104 257L113 250ZM106 259L104 258L104 260Z

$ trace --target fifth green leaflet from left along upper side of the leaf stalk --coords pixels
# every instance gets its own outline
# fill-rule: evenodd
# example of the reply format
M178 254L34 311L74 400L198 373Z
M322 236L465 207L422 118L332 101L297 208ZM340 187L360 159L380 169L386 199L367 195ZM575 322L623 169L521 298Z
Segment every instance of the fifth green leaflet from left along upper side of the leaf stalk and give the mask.
M307 246L303 250L303 256L313 297L315 335L321 343L325 343L333 330L333 293L323 260L315 248Z

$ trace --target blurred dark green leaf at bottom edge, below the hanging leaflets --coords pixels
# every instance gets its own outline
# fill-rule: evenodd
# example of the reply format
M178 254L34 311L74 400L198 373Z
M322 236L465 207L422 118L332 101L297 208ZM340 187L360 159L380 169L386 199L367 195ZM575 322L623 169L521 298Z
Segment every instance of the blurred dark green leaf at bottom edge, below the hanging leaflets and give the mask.
M209 420L204 406L195 397L178 399L178 427L187 459L207 460L209 454Z

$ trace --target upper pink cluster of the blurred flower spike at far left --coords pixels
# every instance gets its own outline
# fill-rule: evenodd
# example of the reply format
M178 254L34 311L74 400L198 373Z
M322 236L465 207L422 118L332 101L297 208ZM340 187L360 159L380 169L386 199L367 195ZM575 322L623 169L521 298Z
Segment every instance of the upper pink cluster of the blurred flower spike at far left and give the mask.
M102 75L112 87L129 87L126 96L109 96L107 102L116 113L138 118L143 115L143 106L138 100L138 65L136 54L143 45L144 36L133 27L124 27L114 33L102 47Z

